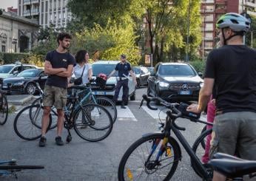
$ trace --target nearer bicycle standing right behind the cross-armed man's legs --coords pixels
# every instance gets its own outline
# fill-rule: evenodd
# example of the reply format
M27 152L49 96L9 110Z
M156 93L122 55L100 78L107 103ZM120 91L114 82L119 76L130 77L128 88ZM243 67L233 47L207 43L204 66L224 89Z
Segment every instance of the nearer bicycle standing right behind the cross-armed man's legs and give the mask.
M71 86L68 89L84 89L81 86ZM64 107L64 128L67 129L67 143L70 143L72 136L70 129L75 129L76 134L84 140L96 142L104 140L112 132L112 117L103 106L88 103L82 105L78 95L67 97L70 106ZM24 140L36 140L41 137L41 105L31 105L21 109L16 115L13 126L18 137ZM27 115L32 115L27 119ZM31 119L32 118L32 119ZM52 120L47 130L50 129ZM30 129L27 129L27 125ZM95 137L93 137L95 136Z

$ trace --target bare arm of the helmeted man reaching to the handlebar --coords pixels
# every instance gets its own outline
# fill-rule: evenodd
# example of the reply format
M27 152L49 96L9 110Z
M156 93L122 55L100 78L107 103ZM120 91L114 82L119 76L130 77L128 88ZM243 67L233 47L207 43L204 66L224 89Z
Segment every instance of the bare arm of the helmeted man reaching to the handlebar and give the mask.
M212 95L213 85L215 83L214 78L204 78L203 87L199 92L198 105L192 104L187 108L189 112L201 113L206 108L207 103Z

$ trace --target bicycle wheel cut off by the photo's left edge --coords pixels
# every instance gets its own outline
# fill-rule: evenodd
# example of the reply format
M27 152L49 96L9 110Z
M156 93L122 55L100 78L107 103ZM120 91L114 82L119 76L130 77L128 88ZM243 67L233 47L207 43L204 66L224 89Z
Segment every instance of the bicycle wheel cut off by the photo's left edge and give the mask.
M8 101L6 92L0 89L0 125L4 125L8 118Z

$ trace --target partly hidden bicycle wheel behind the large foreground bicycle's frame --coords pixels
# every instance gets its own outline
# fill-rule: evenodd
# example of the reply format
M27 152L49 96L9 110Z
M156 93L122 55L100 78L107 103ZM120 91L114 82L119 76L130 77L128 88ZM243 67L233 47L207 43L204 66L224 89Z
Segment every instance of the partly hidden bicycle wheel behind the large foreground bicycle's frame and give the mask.
M212 129L207 129L205 132L203 132L198 138L197 140L195 140L195 143L193 144L192 146L192 150L195 152L196 156L201 160L202 162L202 157L203 155L205 154L205 150L204 148L202 147L202 141L205 141L206 140L206 137L209 135L209 134L212 134ZM202 162L203 164L203 162ZM192 165L192 168L194 169L195 173L198 174L199 177L202 177L201 176L201 173L198 171L198 168L195 166L195 163L192 162L191 160L191 165ZM207 171L209 172L212 172L212 169L207 167L206 164L204 164L204 166L206 167Z

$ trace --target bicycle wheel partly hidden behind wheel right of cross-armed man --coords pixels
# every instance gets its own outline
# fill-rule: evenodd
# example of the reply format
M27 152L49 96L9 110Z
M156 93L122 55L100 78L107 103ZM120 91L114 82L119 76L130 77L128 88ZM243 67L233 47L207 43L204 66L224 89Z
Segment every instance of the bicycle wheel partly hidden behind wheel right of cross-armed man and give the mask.
M118 111L116 109L115 103L109 99L104 97L95 97L95 101L92 99L90 103L96 103L98 105L104 106L110 115L112 116L113 123L115 123L116 117L118 116Z

